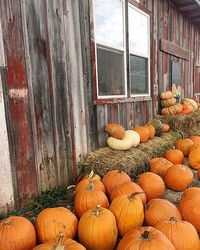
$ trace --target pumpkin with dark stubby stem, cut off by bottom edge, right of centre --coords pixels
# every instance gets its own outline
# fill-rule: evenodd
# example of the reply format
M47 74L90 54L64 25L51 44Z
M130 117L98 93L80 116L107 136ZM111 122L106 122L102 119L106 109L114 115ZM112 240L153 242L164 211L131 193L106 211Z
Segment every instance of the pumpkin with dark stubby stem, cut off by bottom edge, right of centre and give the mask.
M159 230L153 227L138 227L122 238L117 250L175 250L175 247Z

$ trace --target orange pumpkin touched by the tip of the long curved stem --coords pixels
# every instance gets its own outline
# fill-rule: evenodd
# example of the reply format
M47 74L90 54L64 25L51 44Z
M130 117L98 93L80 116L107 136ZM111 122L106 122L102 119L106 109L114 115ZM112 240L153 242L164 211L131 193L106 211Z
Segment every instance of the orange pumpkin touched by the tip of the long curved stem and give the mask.
M154 173L146 172L138 178L139 186L144 190L147 201L161 198L165 193L165 184L162 178Z

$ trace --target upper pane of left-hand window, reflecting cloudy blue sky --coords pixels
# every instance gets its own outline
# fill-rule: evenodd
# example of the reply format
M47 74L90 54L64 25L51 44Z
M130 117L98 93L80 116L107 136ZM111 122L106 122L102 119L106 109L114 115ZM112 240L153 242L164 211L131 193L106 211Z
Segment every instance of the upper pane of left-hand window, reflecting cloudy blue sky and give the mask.
M94 0L94 16L96 41L123 47L123 1Z

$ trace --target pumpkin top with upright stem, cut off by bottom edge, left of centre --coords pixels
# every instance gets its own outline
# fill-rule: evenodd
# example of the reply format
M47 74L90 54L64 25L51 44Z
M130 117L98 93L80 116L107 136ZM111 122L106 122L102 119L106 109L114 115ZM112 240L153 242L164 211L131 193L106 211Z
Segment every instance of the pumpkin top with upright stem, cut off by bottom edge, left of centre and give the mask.
M33 250L86 250L84 246L72 239L63 240L61 234L58 240L45 242L33 248Z

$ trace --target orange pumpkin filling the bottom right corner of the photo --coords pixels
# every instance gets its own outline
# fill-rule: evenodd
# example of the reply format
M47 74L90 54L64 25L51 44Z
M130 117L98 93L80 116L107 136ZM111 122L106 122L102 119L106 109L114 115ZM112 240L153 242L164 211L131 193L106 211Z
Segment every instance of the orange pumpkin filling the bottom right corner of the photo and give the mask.
M194 226L182 220L171 217L159 222L156 229L161 231L173 243L176 250L199 250L199 237Z

